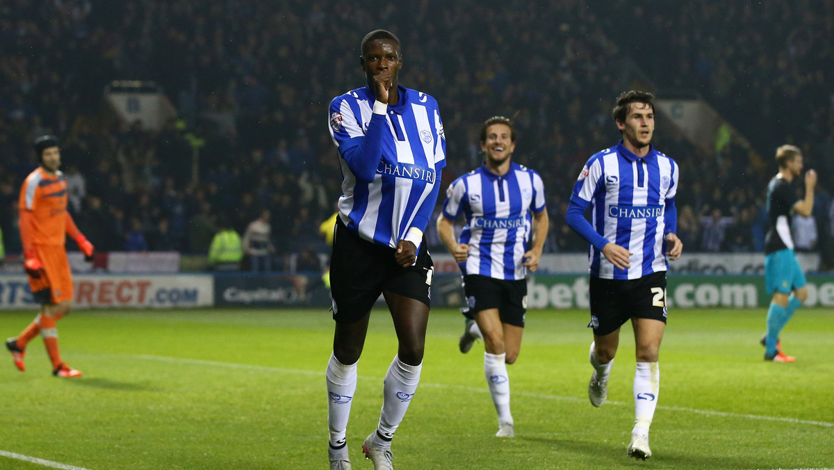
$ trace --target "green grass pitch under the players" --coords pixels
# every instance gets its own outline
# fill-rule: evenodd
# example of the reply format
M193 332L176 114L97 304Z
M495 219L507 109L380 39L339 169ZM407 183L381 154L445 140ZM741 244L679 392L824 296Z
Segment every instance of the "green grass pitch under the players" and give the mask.
M348 444L357 470L396 351L375 309ZM13 336L33 311L0 313ZM591 407L585 311L528 311L510 366L516 437L494 437L483 344L457 350L457 311L431 312L420 387L394 437L398 469L834 467L834 312L797 311L782 343L793 364L762 361L766 313L673 310L661 346L654 456L625 457L634 339L623 327L604 407ZM75 311L58 323L78 379L49 373L43 341L28 370L0 361L0 451L91 470L326 468L323 310ZM3 354L6 354L3 352ZM5 362L3 362L5 361ZM44 468L0 456L0 468Z

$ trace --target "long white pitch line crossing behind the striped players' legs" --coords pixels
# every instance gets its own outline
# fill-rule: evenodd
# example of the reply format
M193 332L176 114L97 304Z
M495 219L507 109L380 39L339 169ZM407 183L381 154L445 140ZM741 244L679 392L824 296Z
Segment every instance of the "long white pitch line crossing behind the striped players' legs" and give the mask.
M182 357L167 357L167 356L150 356L145 354L136 354L132 355L134 357L138 357L139 359L147 359L150 361L165 361L165 362L174 362L174 363L190 363L190 364L200 364L203 366L218 366L218 367L229 367L231 369L248 369L254 371L269 371L269 372L282 372L287 374L300 374L305 376L324 376L324 371L317 372L317 371L305 371L302 369L286 369L284 367L271 367L271 366L253 366L249 364L236 364L234 362L220 362L220 361L204 361L203 359L187 359ZM367 377L372 380L382 380L382 377ZM447 383L431 383L431 382L420 382L421 387L441 387L441 388L455 388L458 390L464 390L466 392L487 392L485 387L466 387L462 385L451 385ZM546 393L530 393L530 392L513 392L514 396L523 396L523 397L532 397L532 398L542 398L545 400L567 400L569 402L585 402L587 398L579 398L579 397L560 397L558 395L548 395ZM625 402L615 402L609 400L606 402L610 405L615 406L623 406L623 405L631 405L631 403ZM761 416L761 415L751 415L751 414L744 414L744 413L731 413L731 412L714 412L710 410L699 410L696 408L686 408L686 407L669 407L658 405L657 406L661 410L670 410L673 412L691 412L697 413L706 416L722 416L722 417L743 417L748 419L758 419L762 421L776 421L776 422L794 422L796 424L811 424L813 426L823 426L823 427L834 427L834 422L824 422L824 421L811 421L805 419L796 419L794 417L769 417L769 416ZM781 469L777 469L781 470ZM796 470L804 470L804 469L796 469ZM808 469L808 470L815 470L815 469ZM834 470L831 468L822 468L816 470Z

